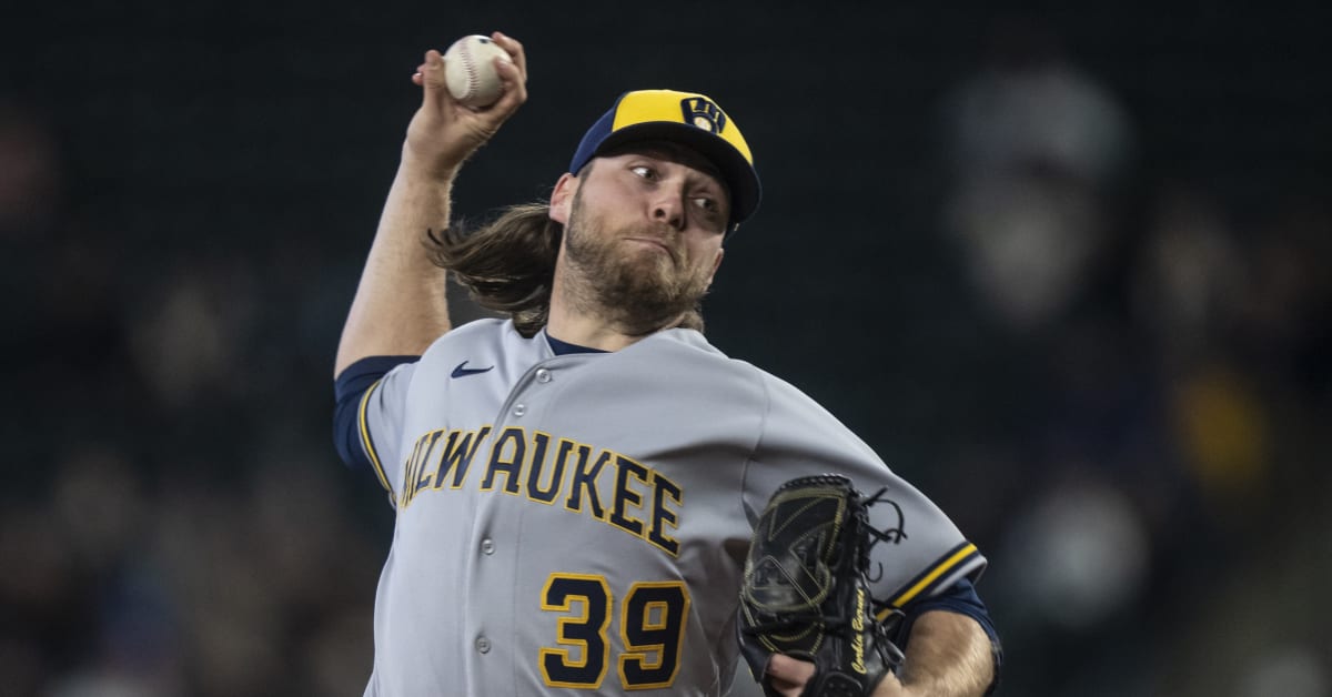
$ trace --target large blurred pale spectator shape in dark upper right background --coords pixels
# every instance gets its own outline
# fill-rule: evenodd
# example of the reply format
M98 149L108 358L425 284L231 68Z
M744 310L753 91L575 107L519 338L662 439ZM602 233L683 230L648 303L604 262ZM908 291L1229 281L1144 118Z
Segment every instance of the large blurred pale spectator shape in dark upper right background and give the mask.
M1094 276L1132 140L1115 96L1051 28L1008 16L987 40L984 64L944 104L944 215L982 301L1027 332Z

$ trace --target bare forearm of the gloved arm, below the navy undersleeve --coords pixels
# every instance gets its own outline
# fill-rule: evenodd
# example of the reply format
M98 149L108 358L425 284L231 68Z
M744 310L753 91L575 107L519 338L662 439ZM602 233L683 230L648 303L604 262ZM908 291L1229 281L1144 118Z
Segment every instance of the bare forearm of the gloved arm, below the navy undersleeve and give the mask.
M902 664L906 694L980 696L992 680L990 637L975 620L946 610L926 612L916 618Z

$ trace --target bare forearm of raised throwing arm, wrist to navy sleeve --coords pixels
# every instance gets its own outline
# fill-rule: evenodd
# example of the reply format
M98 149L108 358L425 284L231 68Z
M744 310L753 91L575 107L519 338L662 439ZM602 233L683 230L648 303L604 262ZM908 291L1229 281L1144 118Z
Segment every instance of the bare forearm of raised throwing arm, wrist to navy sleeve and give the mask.
M453 171L404 152L338 343L333 374L366 356L422 353L449 331L445 271L422 244L449 223Z

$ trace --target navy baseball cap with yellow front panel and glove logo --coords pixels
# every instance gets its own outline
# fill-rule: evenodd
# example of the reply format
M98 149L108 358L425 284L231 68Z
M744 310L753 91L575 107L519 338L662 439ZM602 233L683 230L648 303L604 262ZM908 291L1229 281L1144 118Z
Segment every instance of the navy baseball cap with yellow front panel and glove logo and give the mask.
M731 192L733 231L758 209L763 188L745 136L715 101L695 92L625 92L583 135L569 172L577 175L593 157L645 140L678 143L717 165Z

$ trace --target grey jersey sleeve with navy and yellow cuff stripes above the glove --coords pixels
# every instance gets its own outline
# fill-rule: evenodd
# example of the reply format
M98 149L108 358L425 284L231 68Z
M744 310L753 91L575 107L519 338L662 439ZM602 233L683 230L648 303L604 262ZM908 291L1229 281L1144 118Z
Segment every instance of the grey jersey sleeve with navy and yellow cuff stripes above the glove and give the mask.
M786 481L842 474L864 496L883 492L868 509L870 522L888 533L887 541L871 549L871 568L882 569L872 584L876 600L902 608L946 592L959 580L979 578L986 558L939 506L809 396L773 376L763 377L767 413L743 486L751 521Z

